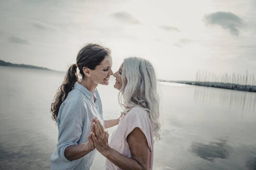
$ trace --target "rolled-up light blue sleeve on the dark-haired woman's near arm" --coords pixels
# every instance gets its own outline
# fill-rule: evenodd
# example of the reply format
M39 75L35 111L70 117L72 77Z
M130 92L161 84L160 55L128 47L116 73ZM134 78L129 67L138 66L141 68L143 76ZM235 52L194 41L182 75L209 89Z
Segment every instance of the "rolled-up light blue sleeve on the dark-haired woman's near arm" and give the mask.
M79 105L76 107L66 106L62 112L59 124L59 136L57 151L59 157L64 162L71 162L65 157L65 149L71 145L78 145L83 129L84 108Z

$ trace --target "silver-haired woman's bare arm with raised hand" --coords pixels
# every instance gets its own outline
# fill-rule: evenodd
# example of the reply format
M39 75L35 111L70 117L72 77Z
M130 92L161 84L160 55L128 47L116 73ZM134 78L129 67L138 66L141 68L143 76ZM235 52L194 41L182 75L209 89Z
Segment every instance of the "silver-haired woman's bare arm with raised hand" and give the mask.
M127 136L133 156L133 158L128 158L109 147L107 135L104 134L103 127L101 126L99 121L96 120L96 124L93 127L95 129L93 134L94 145L101 154L121 169L149 169L150 150L147 139L139 128L136 127Z

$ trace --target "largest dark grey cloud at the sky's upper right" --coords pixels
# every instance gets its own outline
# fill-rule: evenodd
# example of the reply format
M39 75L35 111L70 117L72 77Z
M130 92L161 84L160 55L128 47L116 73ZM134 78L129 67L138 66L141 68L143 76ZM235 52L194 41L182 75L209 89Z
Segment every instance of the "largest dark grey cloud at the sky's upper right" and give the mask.
M238 36L245 25L244 21L232 12L208 13L203 17L203 21L207 25L219 25L234 36Z

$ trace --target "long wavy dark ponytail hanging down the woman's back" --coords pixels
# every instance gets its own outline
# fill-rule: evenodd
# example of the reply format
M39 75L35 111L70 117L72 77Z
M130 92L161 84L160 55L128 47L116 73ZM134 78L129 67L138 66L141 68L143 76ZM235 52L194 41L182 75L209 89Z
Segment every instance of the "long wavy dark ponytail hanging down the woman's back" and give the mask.
M59 87L55 97L54 102L52 103L52 107L50 108L50 112L52 112L52 118L54 121L57 122L58 112L60 105L68 96L68 93L74 88L74 83L78 81L78 76L76 74L76 65L72 64L67 74L62 82L61 86Z

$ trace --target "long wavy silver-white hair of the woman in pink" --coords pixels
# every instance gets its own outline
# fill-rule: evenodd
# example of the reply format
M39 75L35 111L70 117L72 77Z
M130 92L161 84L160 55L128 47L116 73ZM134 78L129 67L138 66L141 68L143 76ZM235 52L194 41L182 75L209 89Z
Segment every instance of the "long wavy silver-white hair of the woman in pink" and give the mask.
M160 139L157 78L152 64L141 58L126 58L123 62L121 79L122 88L118 101L124 109L124 114L134 106L145 109L153 127L153 134L156 139Z

